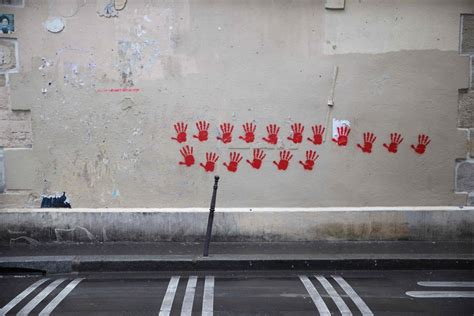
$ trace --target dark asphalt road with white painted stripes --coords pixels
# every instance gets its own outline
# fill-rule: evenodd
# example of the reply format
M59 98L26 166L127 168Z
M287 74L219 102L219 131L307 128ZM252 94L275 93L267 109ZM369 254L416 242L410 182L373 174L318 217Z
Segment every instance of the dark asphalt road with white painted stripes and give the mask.
M473 315L474 273L1 275L0 315Z

